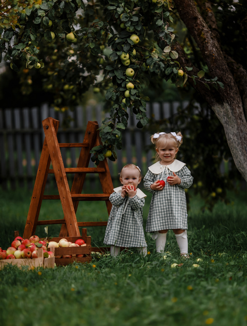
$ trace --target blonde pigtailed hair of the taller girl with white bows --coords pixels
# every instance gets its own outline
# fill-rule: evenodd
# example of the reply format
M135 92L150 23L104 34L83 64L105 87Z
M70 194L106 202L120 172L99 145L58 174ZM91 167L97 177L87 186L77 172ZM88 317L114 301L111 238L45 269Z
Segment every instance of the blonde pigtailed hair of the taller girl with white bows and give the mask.
M159 132L157 132L159 134ZM170 132L169 133L163 133L162 135L159 135L158 138L154 138L154 135L151 136L151 142L155 145L156 148L165 148L168 145L175 146L176 148L179 149L181 144L183 143L183 136L180 131L176 132L177 136L181 137L181 140L179 141L175 136L173 136ZM176 154L177 156L177 154ZM175 156L175 158L176 158ZM159 154L156 152L155 155L156 161L160 161L161 158Z

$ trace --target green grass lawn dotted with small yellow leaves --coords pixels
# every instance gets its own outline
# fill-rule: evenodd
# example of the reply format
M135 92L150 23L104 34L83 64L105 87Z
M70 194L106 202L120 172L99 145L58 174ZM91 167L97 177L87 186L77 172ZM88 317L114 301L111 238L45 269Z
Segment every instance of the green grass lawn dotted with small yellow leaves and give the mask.
M218 203L212 212L200 211L203 203L198 197L191 201L188 241L192 254L185 261L179 259L175 236L169 231L165 251L171 254L166 259L155 252L155 243L146 233L150 251L146 258L130 250L118 259L95 256L91 263L54 269L3 269L1 325L246 325L246 193L229 196L234 204ZM10 245L14 230L22 234L30 197L23 190L0 192L2 248ZM149 202L150 196L144 225ZM78 220L107 218L104 202L80 204ZM44 201L40 219L61 218L60 206L59 201ZM59 228L49 226L49 235L57 236ZM94 229L88 228L87 233L93 243L102 245L104 228ZM44 227L36 233L45 236ZM172 268L174 263L183 265Z

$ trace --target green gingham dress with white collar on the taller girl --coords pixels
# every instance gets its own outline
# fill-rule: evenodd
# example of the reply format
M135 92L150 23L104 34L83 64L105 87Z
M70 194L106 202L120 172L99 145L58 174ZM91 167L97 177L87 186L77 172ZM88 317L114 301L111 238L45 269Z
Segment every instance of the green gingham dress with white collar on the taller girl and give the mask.
M169 185L168 176L175 172L181 179L180 185ZM163 190L152 190L152 185L157 180L164 180ZM151 165L143 179L144 189L153 194L147 217L147 232L159 230L182 229L187 230L187 207L185 188L192 185L193 177L185 163L178 160L170 165L161 165L160 161Z

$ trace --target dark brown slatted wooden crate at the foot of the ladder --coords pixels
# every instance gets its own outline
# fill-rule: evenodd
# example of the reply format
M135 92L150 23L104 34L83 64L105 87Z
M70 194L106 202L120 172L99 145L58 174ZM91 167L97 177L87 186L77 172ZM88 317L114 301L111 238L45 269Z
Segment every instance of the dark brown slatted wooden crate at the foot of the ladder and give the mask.
M72 255L72 258L55 258L56 266L59 266L59 265L66 266L68 264L73 263L74 261L85 263L85 262L89 262L92 260L91 237L87 236L86 231L87 231L86 229L82 229L82 236L80 236L80 237L57 237L57 238L48 239L49 242L50 241L59 242L59 240L64 238L73 243L77 239L83 239L86 244L83 247L54 248L55 256ZM49 248L49 245L48 245L48 248ZM48 249L48 250L50 250L50 249ZM81 255L81 254L83 254L84 257L76 257L76 255Z

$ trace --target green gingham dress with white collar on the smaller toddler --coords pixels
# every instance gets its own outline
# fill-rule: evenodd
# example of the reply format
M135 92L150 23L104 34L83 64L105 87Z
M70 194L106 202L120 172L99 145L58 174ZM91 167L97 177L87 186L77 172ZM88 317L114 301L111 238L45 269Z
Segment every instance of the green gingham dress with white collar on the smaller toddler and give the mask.
M119 247L147 247L142 218L142 208L147 196L138 188L133 198L129 196L123 198L122 187L113 190L114 193L109 198L113 206L105 231L104 244Z

